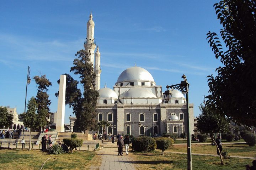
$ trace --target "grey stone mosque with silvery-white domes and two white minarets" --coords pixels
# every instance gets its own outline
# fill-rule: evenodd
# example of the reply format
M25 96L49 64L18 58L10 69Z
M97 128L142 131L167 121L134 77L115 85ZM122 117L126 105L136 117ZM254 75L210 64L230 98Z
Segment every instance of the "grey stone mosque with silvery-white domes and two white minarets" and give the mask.
M193 104L189 104L189 118L186 117L186 98L178 90L172 90L172 98L166 103L163 98L162 86L156 85L152 75L144 68L134 67L125 69L117 78L113 89L100 89L100 51L94 55L94 26L92 14L87 22L87 36L84 42L85 50L91 53L96 74L95 88L100 94L97 100L97 120L105 120L111 124L106 127L107 134L118 133L126 135L145 135L186 132L187 120L190 119L191 134L194 134ZM74 117L70 117L71 131ZM102 133L102 127L97 130Z

